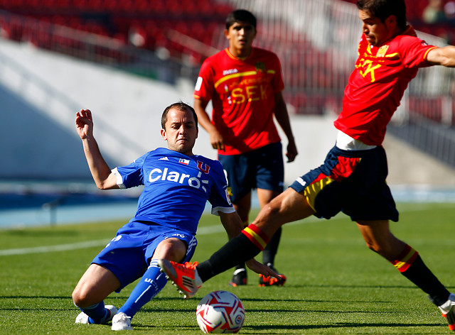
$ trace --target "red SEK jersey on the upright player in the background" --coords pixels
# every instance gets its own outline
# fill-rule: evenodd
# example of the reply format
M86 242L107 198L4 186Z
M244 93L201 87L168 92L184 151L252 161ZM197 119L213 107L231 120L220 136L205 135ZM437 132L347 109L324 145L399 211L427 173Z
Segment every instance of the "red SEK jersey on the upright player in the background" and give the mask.
M274 94L284 89L274 53L252 48L245 60L226 48L200 68L196 99L212 100L212 123L225 138L223 155L237 155L280 141L274 125Z

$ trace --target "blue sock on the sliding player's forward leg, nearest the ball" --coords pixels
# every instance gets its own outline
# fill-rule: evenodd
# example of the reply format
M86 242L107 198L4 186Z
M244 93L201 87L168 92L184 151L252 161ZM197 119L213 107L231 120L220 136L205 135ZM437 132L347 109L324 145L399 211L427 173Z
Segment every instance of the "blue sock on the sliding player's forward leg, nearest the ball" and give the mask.
M152 300L166 285L167 279L164 273L160 272L156 259L150 261L149 268L146 270L141 280L134 287L129 295L127 302L119 309L128 317L133 317L144 304Z

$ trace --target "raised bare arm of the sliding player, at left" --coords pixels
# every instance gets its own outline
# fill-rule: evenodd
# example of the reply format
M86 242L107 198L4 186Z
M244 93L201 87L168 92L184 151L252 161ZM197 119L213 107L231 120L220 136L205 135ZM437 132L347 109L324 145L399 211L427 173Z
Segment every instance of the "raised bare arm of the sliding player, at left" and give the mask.
M92 112L89 109L81 109L76 113L76 131L82 140L85 158L92 173L93 180L100 190L119 188L117 177L112 173L100 153L97 141L93 137Z

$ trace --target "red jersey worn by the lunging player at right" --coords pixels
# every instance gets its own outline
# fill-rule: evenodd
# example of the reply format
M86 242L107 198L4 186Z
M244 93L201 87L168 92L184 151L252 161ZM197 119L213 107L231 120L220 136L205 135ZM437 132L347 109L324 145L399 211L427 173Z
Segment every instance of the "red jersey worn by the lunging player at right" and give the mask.
M429 66L427 54L433 48L417 38L411 26L379 47L362 34L335 127L365 144L380 145L407 84L419 67Z

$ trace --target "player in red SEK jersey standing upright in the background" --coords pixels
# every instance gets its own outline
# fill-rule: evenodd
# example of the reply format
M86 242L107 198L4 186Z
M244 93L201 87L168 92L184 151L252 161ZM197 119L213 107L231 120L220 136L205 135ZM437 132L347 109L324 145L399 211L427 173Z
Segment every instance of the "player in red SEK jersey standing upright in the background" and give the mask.
M251 191L257 189L260 207L283 192L284 164L274 116L288 139L292 162L296 145L284 103L284 83L277 55L253 48L256 18L238 9L228 15L225 36L229 47L208 57L200 68L194 91L194 109L200 125L210 134L218 160L228 177L230 199L244 226L248 225ZM205 111L212 101L212 119ZM262 263L274 271L281 228L262 253ZM282 280L259 275L259 286L283 285ZM245 263L236 266L230 285L246 285Z

